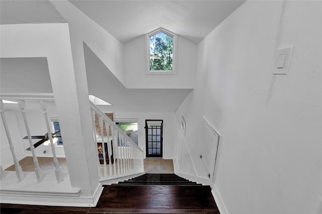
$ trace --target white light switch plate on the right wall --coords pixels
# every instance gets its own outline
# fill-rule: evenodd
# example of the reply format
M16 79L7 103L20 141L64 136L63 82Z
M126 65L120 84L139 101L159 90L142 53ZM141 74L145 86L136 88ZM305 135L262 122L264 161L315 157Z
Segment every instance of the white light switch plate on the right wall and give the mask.
M275 65L273 74L287 74L291 62L293 46L284 49L278 49L275 56Z

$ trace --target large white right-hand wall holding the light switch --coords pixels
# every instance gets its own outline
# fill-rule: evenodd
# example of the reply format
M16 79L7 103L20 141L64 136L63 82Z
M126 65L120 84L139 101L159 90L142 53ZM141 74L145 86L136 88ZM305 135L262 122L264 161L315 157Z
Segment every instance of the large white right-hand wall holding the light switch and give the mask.
M220 132L213 185L229 213L320 211L321 20L319 1L248 1L198 44L196 88L176 115L196 174L202 117ZM273 75L288 46L289 74Z

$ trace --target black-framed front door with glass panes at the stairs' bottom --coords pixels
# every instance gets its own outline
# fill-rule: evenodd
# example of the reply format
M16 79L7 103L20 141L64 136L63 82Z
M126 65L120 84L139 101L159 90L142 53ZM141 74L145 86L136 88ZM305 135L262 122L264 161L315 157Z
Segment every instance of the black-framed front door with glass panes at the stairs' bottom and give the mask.
M163 120L145 120L146 157L162 157Z

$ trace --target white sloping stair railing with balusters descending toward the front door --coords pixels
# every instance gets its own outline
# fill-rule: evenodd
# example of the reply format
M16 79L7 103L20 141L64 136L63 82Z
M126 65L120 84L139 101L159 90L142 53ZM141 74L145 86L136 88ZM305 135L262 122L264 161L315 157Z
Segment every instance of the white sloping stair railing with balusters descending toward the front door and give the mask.
M114 124L97 106L90 101L94 142L97 146L101 139L103 149L103 164L100 164L101 180L114 179L144 172L143 150L136 145L117 125ZM96 136L97 126L95 118L98 117L100 136ZM104 136L104 124L106 136ZM105 151L105 143L107 151ZM97 150L99 156L99 151ZM108 158L108 163L106 159ZM103 169L104 173L101 173Z

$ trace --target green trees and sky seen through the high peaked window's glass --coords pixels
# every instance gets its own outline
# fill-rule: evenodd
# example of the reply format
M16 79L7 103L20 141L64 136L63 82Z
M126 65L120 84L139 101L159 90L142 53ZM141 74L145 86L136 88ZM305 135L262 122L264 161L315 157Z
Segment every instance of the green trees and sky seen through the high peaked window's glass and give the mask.
M162 31L149 37L150 71L173 70L173 39Z

